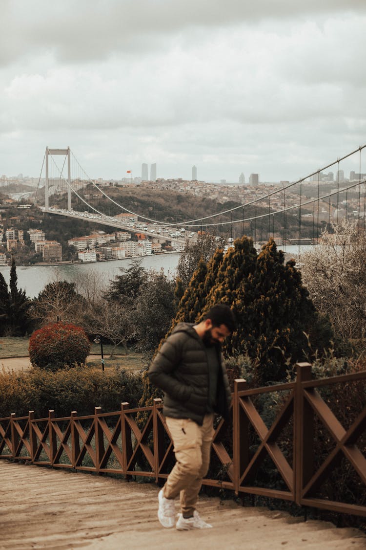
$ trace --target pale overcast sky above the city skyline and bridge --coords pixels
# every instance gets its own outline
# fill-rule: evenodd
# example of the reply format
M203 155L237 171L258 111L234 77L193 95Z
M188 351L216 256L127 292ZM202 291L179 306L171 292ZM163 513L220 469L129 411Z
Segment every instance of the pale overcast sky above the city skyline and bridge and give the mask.
M366 142L365 0L0 9L0 175L70 146L92 178L295 180Z

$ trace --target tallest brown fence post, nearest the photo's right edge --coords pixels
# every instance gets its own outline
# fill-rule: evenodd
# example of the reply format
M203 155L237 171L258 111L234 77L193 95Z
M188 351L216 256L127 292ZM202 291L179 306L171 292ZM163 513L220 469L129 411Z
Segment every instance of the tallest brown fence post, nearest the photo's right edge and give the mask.
M297 363L294 406L294 493L300 505L302 488L312 474L314 464L314 415L308 405L301 383L312 379L311 364Z

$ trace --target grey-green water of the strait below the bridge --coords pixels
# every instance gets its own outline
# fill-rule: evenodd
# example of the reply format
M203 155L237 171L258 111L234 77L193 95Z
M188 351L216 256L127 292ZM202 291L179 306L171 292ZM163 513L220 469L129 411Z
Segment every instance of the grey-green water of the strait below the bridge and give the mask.
M279 246L280 249L283 247ZM301 252L312 249L311 245L301 245ZM286 255L299 255L299 246L291 245L285 247ZM153 268L160 271L162 268L164 273L169 276L174 275L174 271L178 265L179 252L170 254L157 254L144 256L142 258L142 267L149 270ZM112 260L108 262L93 262L93 263L67 263L53 266L17 266L16 274L18 275L18 288L25 290L29 298L35 298L51 281L73 281L77 275L87 273L90 270L95 270L102 276L105 285L110 279L113 279L117 274L121 273L121 268L126 269L131 264L137 261L137 258L128 258L125 260ZM10 267L0 266L0 272L3 274L5 281L9 284Z

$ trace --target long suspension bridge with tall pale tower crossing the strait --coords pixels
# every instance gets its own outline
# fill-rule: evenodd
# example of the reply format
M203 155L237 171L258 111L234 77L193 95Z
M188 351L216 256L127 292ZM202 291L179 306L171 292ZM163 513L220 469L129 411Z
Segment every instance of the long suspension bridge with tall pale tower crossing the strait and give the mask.
M205 232L229 243L248 235L257 246L272 237L284 250L287 245L296 244L301 252L301 245L318 244L322 230L341 219L352 219L360 230L365 230L366 173L362 158L365 147L359 146L295 182L271 185L264 193L262 185L243 204L176 222L154 219L123 206L116 187L89 178L70 147L47 147L35 202L51 215L144 233L161 241L176 241L181 247L188 239L195 240L200 232ZM58 162L60 157L64 159L62 166ZM45 184L41 187L43 168ZM326 174L330 169L333 172ZM348 172L350 177L346 178Z

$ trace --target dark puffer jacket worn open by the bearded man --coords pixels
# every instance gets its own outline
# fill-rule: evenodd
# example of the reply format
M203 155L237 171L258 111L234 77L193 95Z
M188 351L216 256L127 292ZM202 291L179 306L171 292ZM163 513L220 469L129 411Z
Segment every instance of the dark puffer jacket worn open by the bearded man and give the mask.
M221 360L217 381L215 412L229 416L231 393L226 369ZM165 416L189 418L202 425L209 396L209 370L206 348L192 323L179 323L161 346L151 363L150 382L164 391Z

